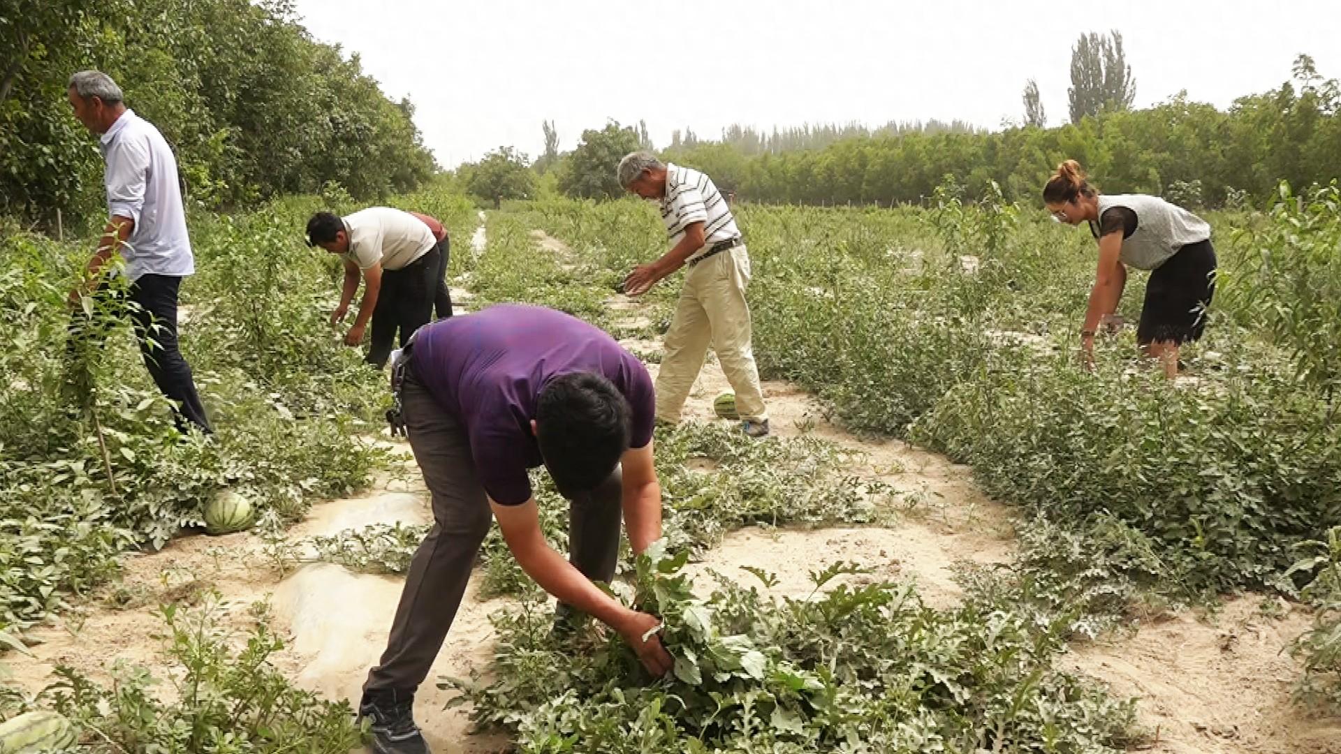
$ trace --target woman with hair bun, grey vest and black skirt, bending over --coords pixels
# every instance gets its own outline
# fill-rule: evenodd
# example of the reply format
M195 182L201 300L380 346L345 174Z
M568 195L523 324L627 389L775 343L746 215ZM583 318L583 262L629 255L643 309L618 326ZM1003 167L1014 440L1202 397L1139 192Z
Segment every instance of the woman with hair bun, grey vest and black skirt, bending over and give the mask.
M1062 223L1089 223L1098 240L1098 272L1081 329L1086 362L1093 356L1094 331L1117 309L1126 268L1134 267L1151 271L1136 341L1163 362L1168 377L1176 377L1179 346L1202 337L1215 294L1211 225L1157 196L1104 196L1089 185L1074 160L1062 162L1049 178L1043 203Z

